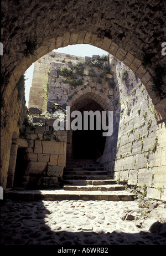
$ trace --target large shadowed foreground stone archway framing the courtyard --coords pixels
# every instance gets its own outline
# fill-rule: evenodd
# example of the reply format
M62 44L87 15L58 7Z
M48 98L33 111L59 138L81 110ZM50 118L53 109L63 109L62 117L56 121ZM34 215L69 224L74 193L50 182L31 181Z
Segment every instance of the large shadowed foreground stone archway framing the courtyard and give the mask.
M161 44L165 40L164 1L2 1L2 99L13 124L13 91L22 76L42 55L68 44L91 44L125 63L146 86L157 110L158 121L165 120L165 59ZM42 24L42 25L41 25ZM142 54L144 58L142 59ZM145 68L146 67L146 68ZM157 70L159 96L152 93ZM5 109L5 110L4 110ZM2 145L12 134L2 129ZM17 122L13 129L17 128ZM2 176L8 170L8 148L1 150ZM3 180L3 179L2 179ZM5 182L2 185L6 187Z

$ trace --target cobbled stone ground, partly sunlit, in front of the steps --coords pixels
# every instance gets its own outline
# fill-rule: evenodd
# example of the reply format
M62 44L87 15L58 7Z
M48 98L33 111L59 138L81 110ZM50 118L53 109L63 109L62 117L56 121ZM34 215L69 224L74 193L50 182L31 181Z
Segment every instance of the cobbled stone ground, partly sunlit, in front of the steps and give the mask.
M151 221L139 204L138 201L16 202L7 199L1 207L1 244L166 244L162 229L158 233L148 231ZM160 205L160 211L165 214L164 204Z

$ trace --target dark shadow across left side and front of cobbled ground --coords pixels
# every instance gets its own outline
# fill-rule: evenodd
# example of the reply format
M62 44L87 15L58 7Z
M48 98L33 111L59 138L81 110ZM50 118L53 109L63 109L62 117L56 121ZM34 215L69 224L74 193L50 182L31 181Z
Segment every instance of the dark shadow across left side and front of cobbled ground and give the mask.
M1 201L2 204L2 201ZM49 203L48 203L49 204ZM50 216L50 221L49 221ZM56 216L56 212L54 212ZM58 219L58 215L57 215ZM56 221L56 219L55 219ZM51 224L50 224L51 223ZM121 229L99 233L78 227L74 232L66 222L53 225L51 212L43 201L3 200L1 206L1 245L163 245L166 238L158 233L124 233ZM82 230L85 229L85 230Z

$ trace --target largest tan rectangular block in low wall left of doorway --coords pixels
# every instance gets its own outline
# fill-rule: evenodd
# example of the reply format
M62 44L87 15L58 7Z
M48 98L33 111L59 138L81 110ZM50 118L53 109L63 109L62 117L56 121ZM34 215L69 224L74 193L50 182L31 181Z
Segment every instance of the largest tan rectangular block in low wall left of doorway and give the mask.
M63 155L63 152L63 142L43 141L43 153Z

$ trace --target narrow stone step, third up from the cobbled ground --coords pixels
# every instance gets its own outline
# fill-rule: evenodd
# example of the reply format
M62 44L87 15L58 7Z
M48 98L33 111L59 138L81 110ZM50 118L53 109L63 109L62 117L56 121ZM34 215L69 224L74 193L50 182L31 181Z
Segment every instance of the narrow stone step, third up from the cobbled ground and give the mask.
M65 185L115 185L115 180L66 180Z

